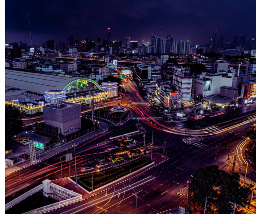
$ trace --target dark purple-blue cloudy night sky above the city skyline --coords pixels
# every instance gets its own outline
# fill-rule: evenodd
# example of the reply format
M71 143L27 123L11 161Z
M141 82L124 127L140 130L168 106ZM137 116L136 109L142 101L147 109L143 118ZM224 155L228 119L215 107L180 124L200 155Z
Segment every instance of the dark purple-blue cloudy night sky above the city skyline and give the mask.
M172 35L174 40L189 39L191 45L208 44L217 29L231 41L234 35L256 37L255 0L6 0L5 43L30 44L28 6L32 42L44 40L66 42L105 37L111 29L111 40L132 40L151 43L151 34ZM239 37L238 37L239 39Z

